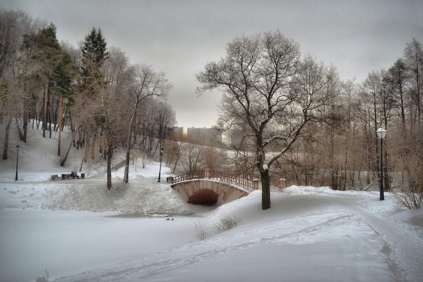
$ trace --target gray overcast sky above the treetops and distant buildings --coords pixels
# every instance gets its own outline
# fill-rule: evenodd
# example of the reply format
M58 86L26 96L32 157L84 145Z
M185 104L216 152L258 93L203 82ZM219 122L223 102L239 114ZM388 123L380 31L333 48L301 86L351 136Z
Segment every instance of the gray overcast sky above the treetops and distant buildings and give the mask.
M59 40L77 46L95 26L108 46L131 63L166 72L174 88L168 102L178 125L211 127L219 91L195 94L195 73L225 56L235 36L279 30L301 45L303 55L334 64L344 80L361 82L373 69L390 67L405 43L423 43L423 0L400 1L60 1L1 0L53 22Z

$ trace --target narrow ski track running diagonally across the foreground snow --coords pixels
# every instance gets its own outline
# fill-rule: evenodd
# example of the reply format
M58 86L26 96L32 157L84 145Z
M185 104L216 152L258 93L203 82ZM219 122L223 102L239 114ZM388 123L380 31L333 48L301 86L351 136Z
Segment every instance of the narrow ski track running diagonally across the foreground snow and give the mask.
M311 214L310 212L309 214ZM311 216L311 215L310 215ZM263 233L269 230L280 230L283 227L289 227L295 221L302 220L304 216L297 216L289 220L280 221L278 224L273 224L267 228L253 229L249 232L238 233L231 236L234 240L230 243L220 243L221 238L211 238L207 241L200 241L198 243L192 243L187 246L179 248L173 248L164 252L151 254L136 260L129 260L126 262L110 265L104 268L98 268L93 271L87 271L82 274L77 274L69 277L62 277L60 281L131 281L131 280L143 280L148 277L160 274L162 272L170 271L181 266L188 265L206 259L210 256L216 256L231 252L233 250L246 249L254 247L258 244L270 244L277 241L284 240L286 238L292 238L295 236L306 235L310 232L316 232L318 229L327 228L343 224L344 220L348 216L334 216L333 218L327 219L320 224L315 222L309 223L307 226L298 228L294 232L277 232L272 237L259 237L251 238L242 241L236 241L236 238ZM342 222L339 222L342 221ZM253 236L257 237L257 236ZM226 241L226 240L225 240ZM196 248L200 245L206 245L207 247L201 251L197 251ZM184 251L182 254L173 254ZM170 255L173 254L173 255ZM170 255L170 256L169 256ZM125 266L126 265L126 266ZM117 269L117 270L114 270Z

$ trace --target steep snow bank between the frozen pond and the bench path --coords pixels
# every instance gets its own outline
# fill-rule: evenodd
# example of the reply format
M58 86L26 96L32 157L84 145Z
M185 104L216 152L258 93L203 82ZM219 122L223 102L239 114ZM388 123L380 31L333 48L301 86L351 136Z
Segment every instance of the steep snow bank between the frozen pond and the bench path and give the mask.
M83 184L83 180L75 184L0 184L0 209L5 208L145 214L195 212L195 206L184 202L166 184L128 183L125 188L109 191L105 183Z

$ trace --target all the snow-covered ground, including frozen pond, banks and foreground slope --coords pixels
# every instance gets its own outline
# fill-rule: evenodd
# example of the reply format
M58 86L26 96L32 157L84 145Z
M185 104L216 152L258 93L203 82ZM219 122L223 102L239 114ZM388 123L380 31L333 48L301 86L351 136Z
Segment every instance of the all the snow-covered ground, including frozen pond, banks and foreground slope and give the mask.
M79 152L61 168L57 141L31 134L19 181L13 155L0 163L0 281L35 281L46 268L49 281L423 280L423 210L397 212L388 193L291 186L265 211L261 191L190 205L157 183L158 163L131 166L127 186L114 171L112 191L104 171L51 181ZM214 234L227 216L242 221ZM211 236L199 241L195 224Z

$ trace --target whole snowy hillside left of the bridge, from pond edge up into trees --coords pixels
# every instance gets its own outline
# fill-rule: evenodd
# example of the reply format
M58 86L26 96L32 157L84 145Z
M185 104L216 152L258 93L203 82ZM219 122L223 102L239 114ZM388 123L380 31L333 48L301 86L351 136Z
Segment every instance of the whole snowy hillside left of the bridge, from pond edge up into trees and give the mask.
M1 124L0 130L4 130ZM101 161L82 162L86 179L51 181L51 175L69 174L75 166L79 166L84 152L72 148L66 166L59 166L55 134L50 139L43 138L41 133L41 130L28 130L27 144L19 143L18 181L15 181L16 151L9 150L9 158L0 162L0 209L41 208L145 214L198 211L195 206L184 202L170 185L157 183L159 163L156 162L145 168L131 162L129 183L126 184L122 182L124 167L113 170L111 191L107 189L106 167ZM18 142L14 139L12 136L10 142ZM113 156L114 163L122 159L118 150ZM162 179L166 180L168 170L162 165Z

